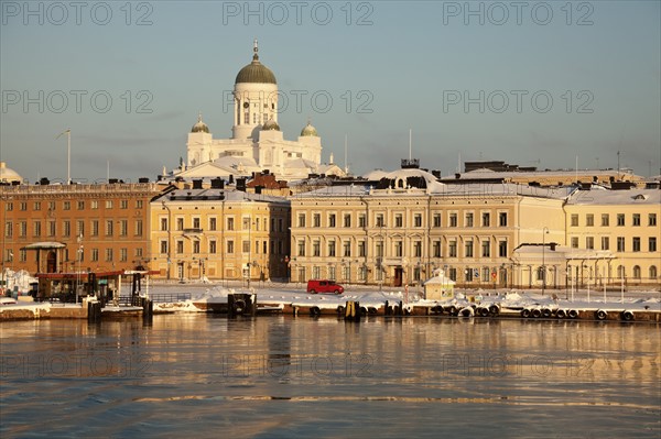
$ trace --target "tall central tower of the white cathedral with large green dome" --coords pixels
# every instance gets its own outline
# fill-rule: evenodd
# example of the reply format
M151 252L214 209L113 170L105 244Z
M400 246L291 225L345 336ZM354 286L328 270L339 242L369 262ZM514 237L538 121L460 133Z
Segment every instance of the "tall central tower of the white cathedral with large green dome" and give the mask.
M254 40L252 63L235 80L232 139L257 142L264 123L278 123L278 83L273 72L259 62L258 51Z

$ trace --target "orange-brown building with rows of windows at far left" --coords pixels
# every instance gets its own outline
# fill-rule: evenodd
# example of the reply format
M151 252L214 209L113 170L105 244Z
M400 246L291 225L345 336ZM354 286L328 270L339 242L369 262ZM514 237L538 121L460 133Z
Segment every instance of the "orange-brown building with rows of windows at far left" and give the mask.
M1 262L30 273L134 270L150 259L154 183L0 186Z

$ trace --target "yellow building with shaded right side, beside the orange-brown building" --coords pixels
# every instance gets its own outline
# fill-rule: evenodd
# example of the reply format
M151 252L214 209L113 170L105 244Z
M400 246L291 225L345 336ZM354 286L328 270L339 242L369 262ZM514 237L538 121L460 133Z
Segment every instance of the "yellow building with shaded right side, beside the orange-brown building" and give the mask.
M151 202L151 270L181 281L286 277L290 204L213 180Z

